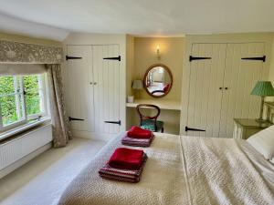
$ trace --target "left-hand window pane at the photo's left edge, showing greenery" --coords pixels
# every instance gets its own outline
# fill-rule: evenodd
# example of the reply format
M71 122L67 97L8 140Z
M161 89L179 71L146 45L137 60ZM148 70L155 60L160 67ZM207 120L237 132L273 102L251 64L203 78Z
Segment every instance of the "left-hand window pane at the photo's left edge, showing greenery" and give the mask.
M3 126L24 119L24 98L19 77L0 77L0 106Z

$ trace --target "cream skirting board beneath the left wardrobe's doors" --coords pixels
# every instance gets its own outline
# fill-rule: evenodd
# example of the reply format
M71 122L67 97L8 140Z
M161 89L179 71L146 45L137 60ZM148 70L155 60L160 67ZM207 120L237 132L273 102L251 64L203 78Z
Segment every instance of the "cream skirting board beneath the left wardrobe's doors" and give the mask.
M109 141L111 138L117 136L118 134L99 134L99 133L93 133L88 131L79 131L79 130L71 130L72 136L75 138L91 138L91 139L97 139L102 141Z

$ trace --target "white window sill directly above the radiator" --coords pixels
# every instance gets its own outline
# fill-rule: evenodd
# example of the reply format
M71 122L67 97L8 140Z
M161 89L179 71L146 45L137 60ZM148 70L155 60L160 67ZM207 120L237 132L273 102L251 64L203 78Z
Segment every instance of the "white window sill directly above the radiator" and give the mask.
M26 131L28 129L31 129L31 128L35 128L35 127L37 127L39 125L48 123L50 121L51 121L50 118L45 117L45 118L38 119L35 122L29 122L29 123L27 123L25 125L9 129L9 130L7 130L5 132L0 133L0 141L4 140L6 138L14 137L16 134L19 134L19 133L24 132L24 131Z

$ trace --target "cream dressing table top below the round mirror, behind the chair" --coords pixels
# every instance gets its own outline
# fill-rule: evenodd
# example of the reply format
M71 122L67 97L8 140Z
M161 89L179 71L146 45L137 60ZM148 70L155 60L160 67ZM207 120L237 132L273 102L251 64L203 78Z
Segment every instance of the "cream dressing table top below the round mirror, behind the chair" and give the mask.
M163 99L135 99L133 103L127 103L128 108L136 108L139 104L153 104L161 109L181 110L181 103L175 100Z

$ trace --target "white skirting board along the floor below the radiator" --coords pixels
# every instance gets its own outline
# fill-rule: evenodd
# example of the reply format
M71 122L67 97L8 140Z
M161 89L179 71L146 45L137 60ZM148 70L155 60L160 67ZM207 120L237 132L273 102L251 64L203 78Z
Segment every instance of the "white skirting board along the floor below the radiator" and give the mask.
M5 177L5 175L9 174L10 172L14 171L15 169L23 166L26 164L26 162L30 161L31 159L36 158L38 155L42 154L47 149L52 148L52 143L49 142L43 147L33 151L32 153L26 155L24 158L17 160L15 163L11 164L10 166L6 167L5 169L2 169L0 171L0 179Z

